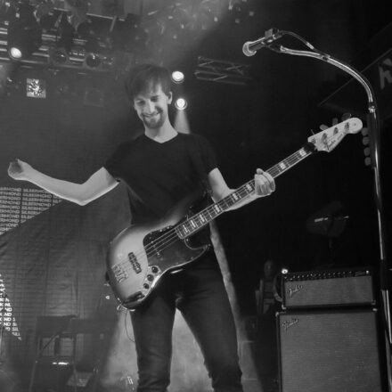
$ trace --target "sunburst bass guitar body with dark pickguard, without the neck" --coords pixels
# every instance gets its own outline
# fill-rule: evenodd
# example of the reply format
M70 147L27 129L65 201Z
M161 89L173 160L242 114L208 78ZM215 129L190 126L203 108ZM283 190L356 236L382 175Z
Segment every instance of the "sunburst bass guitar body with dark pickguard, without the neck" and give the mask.
M181 201L159 221L132 225L110 242L107 273L119 303L128 309L147 299L160 278L202 256L209 244L181 238L176 226L187 218L195 197Z

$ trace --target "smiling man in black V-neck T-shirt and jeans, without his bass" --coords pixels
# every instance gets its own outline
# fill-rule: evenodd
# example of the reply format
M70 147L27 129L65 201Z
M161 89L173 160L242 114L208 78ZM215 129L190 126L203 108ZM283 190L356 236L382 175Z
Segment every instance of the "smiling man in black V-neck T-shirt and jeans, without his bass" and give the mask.
M9 175L79 205L99 198L123 181L129 190L134 225L160 219L194 192L208 189L213 200L222 200L233 190L217 168L206 139L179 134L170 123L170 84L167 69L142 64L131 70L127 95L143 122L144 134L122 143L84 184L46 176L20 159L10 164ZM274 188L273 177L257 169L255 191L232 208L269 195ZM138 391L167 390L176 308L200 345L214 390L242 391L233 314L212 247L176 274L166 274L131 313Z

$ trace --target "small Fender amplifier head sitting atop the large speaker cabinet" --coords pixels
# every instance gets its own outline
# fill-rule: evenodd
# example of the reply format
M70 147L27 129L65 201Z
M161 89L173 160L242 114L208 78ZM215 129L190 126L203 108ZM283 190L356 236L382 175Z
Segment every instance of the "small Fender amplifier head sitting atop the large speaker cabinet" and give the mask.
M331 269L282 275L284 309L374 306L370 268Z

